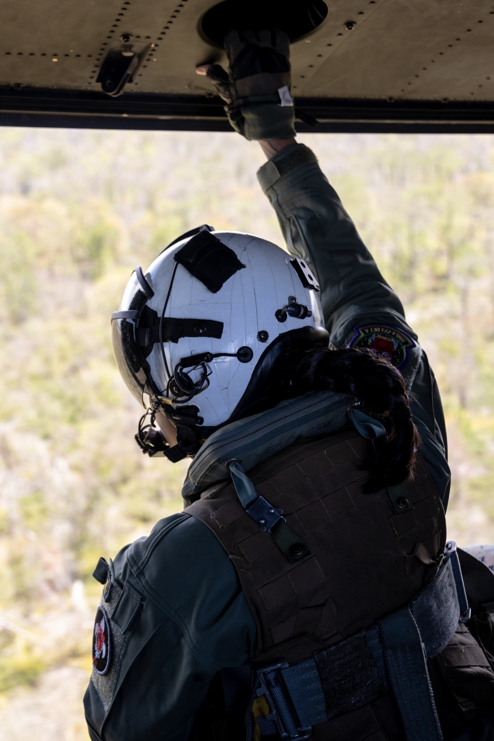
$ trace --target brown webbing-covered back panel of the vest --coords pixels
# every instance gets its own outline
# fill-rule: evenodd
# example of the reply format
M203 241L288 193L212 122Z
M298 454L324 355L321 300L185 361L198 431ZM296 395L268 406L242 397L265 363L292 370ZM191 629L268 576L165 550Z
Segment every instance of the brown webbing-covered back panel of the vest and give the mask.
M256 621L256 659L304 659L407 604L436 573L445 523L430 473L419 459L409 506L396 514L387 491L362 493L370 451L346 429L295 442L250 469L257 493L283 510L310 551L295 563L246 514L232 482L187 508L236 565Z

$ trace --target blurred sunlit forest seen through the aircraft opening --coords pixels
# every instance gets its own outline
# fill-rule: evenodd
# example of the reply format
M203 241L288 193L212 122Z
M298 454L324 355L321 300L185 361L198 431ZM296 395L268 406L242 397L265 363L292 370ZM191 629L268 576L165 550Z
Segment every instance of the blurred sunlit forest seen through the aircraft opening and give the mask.
M302 136L398 290L438 377L462 545L494 542L494 137ZM181 509L141 455L110 313L202 223L280 242L232 134L0 130L0 737L87 740L100 555Z

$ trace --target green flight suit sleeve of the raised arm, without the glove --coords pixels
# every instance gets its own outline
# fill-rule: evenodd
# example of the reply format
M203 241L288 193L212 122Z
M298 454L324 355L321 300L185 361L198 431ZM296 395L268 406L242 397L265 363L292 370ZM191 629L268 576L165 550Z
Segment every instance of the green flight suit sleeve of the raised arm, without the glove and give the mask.
M370 348L404 376L421 453L444 504L450 490L444 414L437 384L403 305L304 144L281 150L258 171L291 255L307 262L321 286L332 348Z

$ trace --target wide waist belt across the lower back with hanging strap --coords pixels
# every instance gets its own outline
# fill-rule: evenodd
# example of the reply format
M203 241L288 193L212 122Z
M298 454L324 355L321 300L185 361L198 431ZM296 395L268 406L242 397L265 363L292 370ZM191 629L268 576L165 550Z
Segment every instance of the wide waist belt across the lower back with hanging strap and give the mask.
M455 544L448 543L446 552L454 553ZM261 735L306 739L313 725L361 708L390 687L407 741L442 741L427 657L440 653L455 632L462 584L449 555L410 605L372 628L309 659L256 667L253 700L264 696L269 708L268 714L256 717ZM253 739L252 718L247 730L247 739Z

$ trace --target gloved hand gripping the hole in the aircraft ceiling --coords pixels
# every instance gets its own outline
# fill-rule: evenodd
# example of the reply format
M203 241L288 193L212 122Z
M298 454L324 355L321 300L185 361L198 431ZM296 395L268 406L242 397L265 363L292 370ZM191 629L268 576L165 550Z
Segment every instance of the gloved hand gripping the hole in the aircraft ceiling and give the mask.
M227 103L233 128L249 140L296 136L287 34L280 30L229 31L224 48L230 75L219 64L212 64L207 76Z

